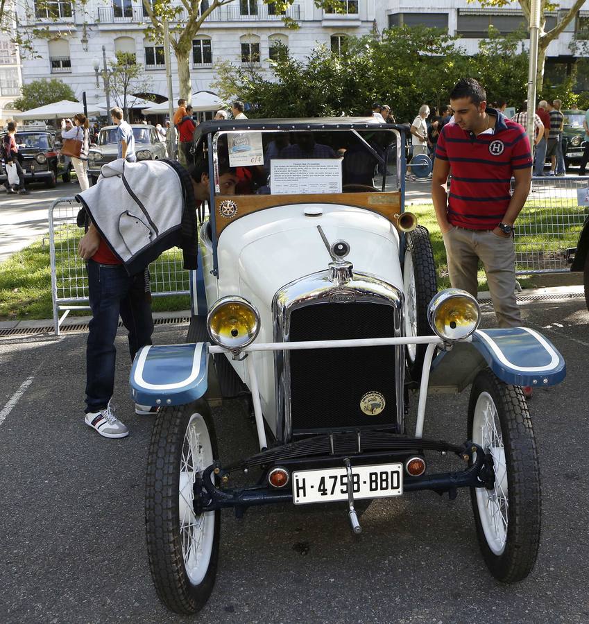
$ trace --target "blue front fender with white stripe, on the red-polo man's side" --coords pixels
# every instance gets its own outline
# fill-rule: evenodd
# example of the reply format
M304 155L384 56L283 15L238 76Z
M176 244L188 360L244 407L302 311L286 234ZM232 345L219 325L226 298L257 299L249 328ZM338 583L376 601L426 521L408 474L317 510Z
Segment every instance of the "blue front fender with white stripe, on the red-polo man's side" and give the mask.
M429 387L460 392L486 366L513 385L556 385L566 376L563 356L541 333L528 327L477 329L472 342L456 343L436 357Z

